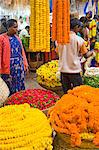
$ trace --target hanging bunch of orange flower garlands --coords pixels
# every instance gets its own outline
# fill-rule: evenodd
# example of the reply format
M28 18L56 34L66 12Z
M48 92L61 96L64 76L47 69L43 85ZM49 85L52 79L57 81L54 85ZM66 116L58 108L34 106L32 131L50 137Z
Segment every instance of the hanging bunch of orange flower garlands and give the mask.
M70 0L53 0L52 39L59 44L69 43Z

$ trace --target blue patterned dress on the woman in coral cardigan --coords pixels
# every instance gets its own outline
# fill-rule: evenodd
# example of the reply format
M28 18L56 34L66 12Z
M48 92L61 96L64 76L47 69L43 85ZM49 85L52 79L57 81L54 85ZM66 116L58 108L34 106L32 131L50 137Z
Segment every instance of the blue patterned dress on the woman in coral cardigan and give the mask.
M2 79L9 87L10 95L25 89L24 84L24 64L22 57L22 47L18 39L9 37L11 56L10 56L10 75L2 75Z

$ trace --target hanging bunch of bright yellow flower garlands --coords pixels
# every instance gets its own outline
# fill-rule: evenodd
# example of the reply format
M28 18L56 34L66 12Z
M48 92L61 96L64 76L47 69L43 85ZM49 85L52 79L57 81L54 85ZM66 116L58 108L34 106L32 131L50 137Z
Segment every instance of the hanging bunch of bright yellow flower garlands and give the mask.
M30 0L30 51L50 52L50 15L48 0Z

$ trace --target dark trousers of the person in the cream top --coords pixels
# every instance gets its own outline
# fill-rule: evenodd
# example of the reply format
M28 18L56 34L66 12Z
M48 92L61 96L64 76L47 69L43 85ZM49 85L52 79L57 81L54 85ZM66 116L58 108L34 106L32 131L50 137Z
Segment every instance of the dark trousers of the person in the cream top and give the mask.
M66 94L69 89L82 85L82 78L80 73L62 73L61 83L64 93Z

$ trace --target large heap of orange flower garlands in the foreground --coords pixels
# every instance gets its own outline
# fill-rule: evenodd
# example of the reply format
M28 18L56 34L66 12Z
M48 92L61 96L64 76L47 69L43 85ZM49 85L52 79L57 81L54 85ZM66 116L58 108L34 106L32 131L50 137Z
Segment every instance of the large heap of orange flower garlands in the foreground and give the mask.
M52 127L71 136L71 145L82 139L99 146L99 88L80 86L70 90L49 110Z

